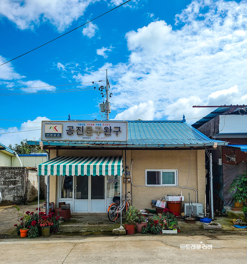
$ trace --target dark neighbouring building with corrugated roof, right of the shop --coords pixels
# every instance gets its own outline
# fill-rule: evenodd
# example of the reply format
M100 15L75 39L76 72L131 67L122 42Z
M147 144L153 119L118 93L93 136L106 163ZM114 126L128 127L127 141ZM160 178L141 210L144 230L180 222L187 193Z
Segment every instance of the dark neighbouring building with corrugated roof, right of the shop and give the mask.
M246 171L247 108L219 107L192 126L211 139L229 142L213 151L214 208L222 211L234 204L230 184Z

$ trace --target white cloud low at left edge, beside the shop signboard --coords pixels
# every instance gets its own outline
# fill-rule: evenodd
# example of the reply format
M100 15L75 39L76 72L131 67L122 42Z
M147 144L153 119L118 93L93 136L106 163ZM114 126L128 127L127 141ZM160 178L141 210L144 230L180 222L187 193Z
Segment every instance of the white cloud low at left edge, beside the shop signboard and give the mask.
M41 137L42 120L50 119L47 117L37 117L34 120L21 123L19 127L9 127L6 130L0 130L0 142L5 146L9 146L9 144L14 146L15 143L19 144L23 139L33 140L35 138L38 140Z

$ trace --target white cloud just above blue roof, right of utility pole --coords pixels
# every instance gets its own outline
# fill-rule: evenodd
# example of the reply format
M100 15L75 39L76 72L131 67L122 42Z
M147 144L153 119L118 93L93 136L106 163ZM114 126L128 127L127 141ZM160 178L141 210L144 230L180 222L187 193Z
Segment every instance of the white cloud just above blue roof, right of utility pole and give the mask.
M123 112L117 114L113 120L153 120L154 118L154 107L153 102L143 102L139 105L131 106L130 108L124 110Z

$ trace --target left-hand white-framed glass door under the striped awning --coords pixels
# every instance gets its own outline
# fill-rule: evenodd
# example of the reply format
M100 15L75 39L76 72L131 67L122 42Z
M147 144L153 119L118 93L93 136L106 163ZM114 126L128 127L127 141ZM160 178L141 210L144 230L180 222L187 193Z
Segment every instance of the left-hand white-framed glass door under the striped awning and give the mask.
M74 212L89 212L89 176L74 176Z

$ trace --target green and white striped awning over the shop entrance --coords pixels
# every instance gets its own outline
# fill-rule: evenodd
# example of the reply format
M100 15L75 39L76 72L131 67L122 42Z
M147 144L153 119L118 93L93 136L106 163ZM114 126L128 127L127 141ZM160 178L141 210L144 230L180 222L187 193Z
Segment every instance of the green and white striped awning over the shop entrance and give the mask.
M122 175L122 157L56 157L39 164L38 175Z

